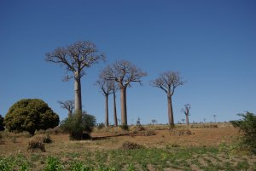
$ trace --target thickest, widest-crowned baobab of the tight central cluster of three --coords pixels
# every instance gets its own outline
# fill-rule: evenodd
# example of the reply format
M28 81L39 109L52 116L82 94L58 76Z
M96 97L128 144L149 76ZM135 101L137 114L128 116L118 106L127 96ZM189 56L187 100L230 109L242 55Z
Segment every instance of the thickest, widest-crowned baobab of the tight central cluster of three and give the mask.
M118 83L121 100L121 123L127 125L126 88L130 87L132 82L141 83L142 77L147 76L147 73L126 60L117 61L112 66L108 66L104 69L104 73L109 80Z

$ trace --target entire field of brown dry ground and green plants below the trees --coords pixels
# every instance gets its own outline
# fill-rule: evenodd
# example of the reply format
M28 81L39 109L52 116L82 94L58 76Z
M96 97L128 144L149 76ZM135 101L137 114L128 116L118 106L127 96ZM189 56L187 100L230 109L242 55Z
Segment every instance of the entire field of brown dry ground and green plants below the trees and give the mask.
M91 140L80 141L69 140L68 134L56 129L36 132L34 137L4 131L0 170L256 169L253 154L237 151L241 134L229 123L180 125L173 130L166 125L143 128L96 128ZM154 134L146 134L148 130ZM44 151L28 151L27 145L34 140L47 142Z

